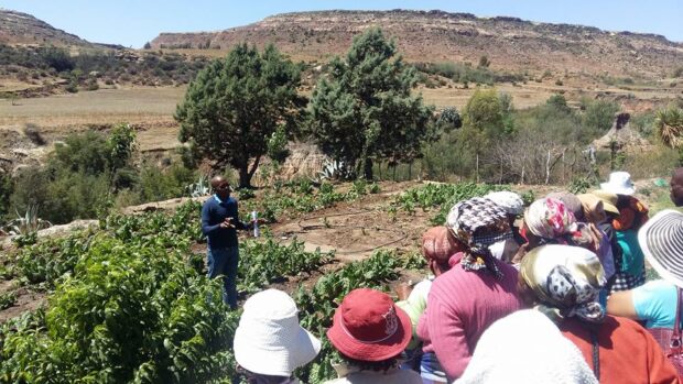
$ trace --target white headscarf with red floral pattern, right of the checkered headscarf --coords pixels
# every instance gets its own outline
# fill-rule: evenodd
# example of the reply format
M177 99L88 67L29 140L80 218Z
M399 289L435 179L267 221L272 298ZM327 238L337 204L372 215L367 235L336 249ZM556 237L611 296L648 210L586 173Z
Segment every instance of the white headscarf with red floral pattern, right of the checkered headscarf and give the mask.
M524 222L531 233L543 239L557 239L576 231L574 215L564 202L553 198L533 201L524 212Z

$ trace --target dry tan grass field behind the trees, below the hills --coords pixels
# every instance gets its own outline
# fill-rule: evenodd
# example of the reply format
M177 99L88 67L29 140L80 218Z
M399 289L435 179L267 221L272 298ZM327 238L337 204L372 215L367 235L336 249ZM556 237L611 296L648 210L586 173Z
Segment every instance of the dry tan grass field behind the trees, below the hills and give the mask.
M496 88L511 95L518 109L536 106L545 102L553 94L563 92L573 103L582 96L594 98L607 95L620 100L626 110L642 110L665 105L680 94L677 88L606 88L577 80L570 80L565 86L543 81L501 84ZM178 144L177 123L173 119L173 112L185 89L186 87L135 87L18 99L13 102L0 100L0 133L22 132L26 124L35 124L47 139L58 140L69 132L128 122L139 129L141 151L171 150ZM463 88L462 85L451 81L444 87L420 86L416 89L422 92L426 103L435 105L437 109L456 107L458 110L465 107L475 90L475 86ZM311 91L304 94L310 95ZM7 144L0 146L8 150Z

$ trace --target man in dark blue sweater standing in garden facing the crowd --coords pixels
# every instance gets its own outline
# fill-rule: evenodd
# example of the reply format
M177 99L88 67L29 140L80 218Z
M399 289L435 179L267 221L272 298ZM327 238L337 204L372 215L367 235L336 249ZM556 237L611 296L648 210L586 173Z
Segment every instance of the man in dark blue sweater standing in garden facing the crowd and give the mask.
M202 207L202 232L208 240L208 277L223 275L223 301L237 309L237 230L248 229L239 221L237 200L230 197L230 183L221 176L212 178L214 195Z

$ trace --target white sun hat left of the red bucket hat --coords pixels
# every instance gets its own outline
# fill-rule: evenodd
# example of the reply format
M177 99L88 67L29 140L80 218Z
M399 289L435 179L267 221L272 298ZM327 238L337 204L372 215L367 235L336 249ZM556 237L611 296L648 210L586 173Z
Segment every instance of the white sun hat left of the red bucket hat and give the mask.
M267 289L245 303L235 331L235 360L243 369L290 376L321 351L321 341L299 325L296 304L286 293Z

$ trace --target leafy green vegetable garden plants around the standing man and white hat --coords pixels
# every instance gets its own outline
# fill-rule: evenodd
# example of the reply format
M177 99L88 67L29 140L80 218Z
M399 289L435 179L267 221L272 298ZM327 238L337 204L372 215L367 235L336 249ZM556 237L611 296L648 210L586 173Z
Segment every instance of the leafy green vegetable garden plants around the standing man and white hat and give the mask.
M441 215L454 199L500 188L419 186L393 198L386 211L414 213L421 208ZM332 185L289 185L265 191L260 199L245 199L240 208L261 213L270 209L270 220L282 220L357 201L369 191L378 190L365 184L345 193ZM41 239L9 254L0 266L2 279L45 292L48 299L45 307L0 326L0 382L239 380L231 353L239 311L224 306L221 284L207 279L205 254L194 251L203 243L199 210L198 202L188 202L172 215L109 216L98 230ZM379 249L362 260L339 263L334 252L307 252L296 239L281 244L268 230L264 233L240 242L239 290L249 295L282 282L296 284L288 289L301 322L323 340L319 356L296 372L303 382L334 377L335 353L324 334L348 292L387 290L406 270L425 272L416 252ZM11 305L11 293L0 296L0 307Z

